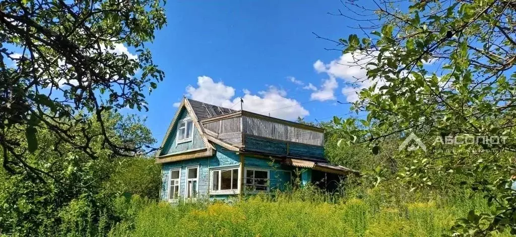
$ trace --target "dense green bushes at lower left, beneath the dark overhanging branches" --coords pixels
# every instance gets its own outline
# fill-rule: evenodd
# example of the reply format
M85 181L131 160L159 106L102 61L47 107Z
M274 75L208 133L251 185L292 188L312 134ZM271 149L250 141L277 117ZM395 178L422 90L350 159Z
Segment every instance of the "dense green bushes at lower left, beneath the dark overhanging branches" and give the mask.
M123 117L110 112L104 112L102 116L105 128L110 131L109 139L117 145L126 141L138 145L155 142L150 130L136 116ZM92 125L86 135L81 129L69 133L76 139L100 133L100 122L94 117L90 121ZM18 136L22 140L25 135ZM25 162L31 167L45 169L51 177L45 176L45 180L40 181L34 173L24 172L22 167L15 168L16 174L0 171L0 232L14 236L102 236L95 234L120 221L112 200L116 197L114 191L125 191L126 188L106 186L116 184L111 177L117 177L114 170L124 159L116 157L108 147L104 148L101 139L92 140L90 148L96 158L91 159L71 144L56 146L60 137L54 131L40 129L37 136L40 149L35 154L26 154ZM132 159L134 162L140 160ZM143 176L159 176L155 170L138 172ZM143 181L139 184L147 188L159 185ZM157 195L155 189L153 192Z

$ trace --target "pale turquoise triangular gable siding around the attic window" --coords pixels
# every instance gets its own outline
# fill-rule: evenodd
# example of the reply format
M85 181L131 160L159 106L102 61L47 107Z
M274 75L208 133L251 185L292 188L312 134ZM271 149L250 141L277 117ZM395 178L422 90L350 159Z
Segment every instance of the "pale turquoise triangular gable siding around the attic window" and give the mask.
M193 124L193 138L191 141L183 142L183 143L176 143L175 137L178 135L178 124L179 121L189 117L188 111L185 108L182 108L178 119L176 120L175 124L172 127L172 130L170 131L167 141L165 142L165 145L162 149L162 152L159 155L166 155L170 153L176 153L176 152L182 152L182 151L188 151L188 150L195 150L200 148L205 148L206 145L204 144L204 141L202 140L201 134L199 133L198 127Z

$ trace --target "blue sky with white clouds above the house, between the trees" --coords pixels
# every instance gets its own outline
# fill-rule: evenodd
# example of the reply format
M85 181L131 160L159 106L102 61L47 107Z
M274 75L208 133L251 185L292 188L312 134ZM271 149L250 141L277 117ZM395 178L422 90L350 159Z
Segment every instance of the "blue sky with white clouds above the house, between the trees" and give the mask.
M150 111L139 113L158 140L183 95L226 107L244 97L244 110L285 119L349 113L336 101L353 100L354 89L343 91L352 75L336 63L341 53L325 50L333 45L312 34L359 33L348 27L353 22L327 14L342 9L339 1L168 1L165 7L168 25L147 46L166 77L148 96Z

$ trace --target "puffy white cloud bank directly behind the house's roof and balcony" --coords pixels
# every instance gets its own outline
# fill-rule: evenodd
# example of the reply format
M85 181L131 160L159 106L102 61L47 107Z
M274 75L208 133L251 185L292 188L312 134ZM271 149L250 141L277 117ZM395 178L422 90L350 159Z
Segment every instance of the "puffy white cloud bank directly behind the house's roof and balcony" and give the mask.
M222 81L214 82L207 76L198 77L197 86L187 86L186 92L187 96L193 100L228 108L240 102L240 97L235 97L235 88L224 85ZM269 86L256 95L253 95L248 89L244 89L243 92L242 99L246 111L263 115L270 113L272 117L287 120L294 120L310 114L297 100L287 98L285 90L275 86Z

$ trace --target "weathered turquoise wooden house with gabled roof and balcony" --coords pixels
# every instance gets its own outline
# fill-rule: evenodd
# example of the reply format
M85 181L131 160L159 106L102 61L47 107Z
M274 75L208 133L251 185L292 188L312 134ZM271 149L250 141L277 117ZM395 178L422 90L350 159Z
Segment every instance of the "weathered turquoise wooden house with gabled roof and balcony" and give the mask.
M319 127L184 98L156 153L163 164L160 197L173 202L270 192L299 173L303 184L327 188L353 171L328 163L323 145Z

